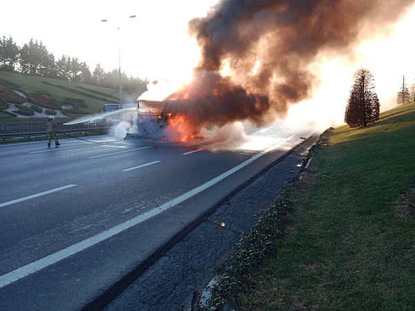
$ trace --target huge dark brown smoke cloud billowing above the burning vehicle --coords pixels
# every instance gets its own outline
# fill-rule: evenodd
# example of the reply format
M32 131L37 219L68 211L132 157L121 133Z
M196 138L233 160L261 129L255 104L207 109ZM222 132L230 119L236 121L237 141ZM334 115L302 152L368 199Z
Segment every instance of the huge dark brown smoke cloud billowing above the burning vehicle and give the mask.
M387 32L413 5L414 0L223 0L189 22L201 60L192 82L167 97L167 111L189 115L205 128L284 118L291 104L311 99L320 85L313 70L318 57L352 56L360 39Z

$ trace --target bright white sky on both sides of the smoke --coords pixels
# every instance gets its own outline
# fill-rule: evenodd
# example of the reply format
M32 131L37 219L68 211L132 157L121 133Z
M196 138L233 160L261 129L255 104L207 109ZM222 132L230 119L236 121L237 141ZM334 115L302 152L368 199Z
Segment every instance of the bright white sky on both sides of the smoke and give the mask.
M118 69L128 76L152 81L185 83L198 64L200 50L187 34L187 23L203 17L218 0L22 0L2 3L0 36L12 37L18 46L31 38L42 41L55 59L62 55L86 62L91 72L96 64L105 71ZM136 15L134 18L129 18ZM107 19L107 22L102 22ZM393 105L405 75L415 82L415 41L412 40L415 7L388 34L374 34L360 42L354 57L337 55L315 64L322 84L308 102L291 106L293 122L325 113L328 122L344 117L353 73L371 70L380 98L381 111ZM120 48L120 59L118 55ZM337 104L328 104L333 98Z

